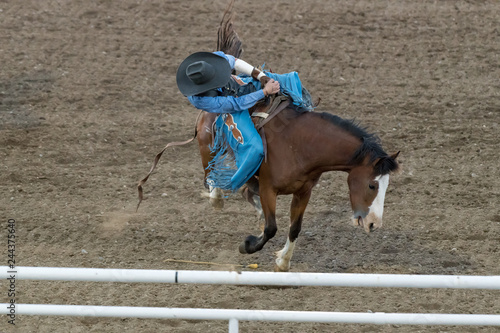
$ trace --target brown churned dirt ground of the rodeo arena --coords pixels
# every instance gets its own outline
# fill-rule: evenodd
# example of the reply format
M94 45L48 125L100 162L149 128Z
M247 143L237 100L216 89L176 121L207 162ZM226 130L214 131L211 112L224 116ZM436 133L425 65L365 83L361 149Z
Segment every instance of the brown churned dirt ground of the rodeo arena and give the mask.
M0 205L20 266L273 270L288 225L258 233L237 195L201 197L197 111L175 83L190 53L215 50L226 0L0 1ZM318 112L356 118L400 150L384 228L350 224L345 173L313 192L291 271L500 275L500 6L497 1L237 1L243 59L296 70ZM265 288L18 281L18 303L499 314L485 290ZM7 302L5 281L0 301ZM22 316L19 332L226 332L226 321ZM7 318L0 331L12 331ZM498 332L492 327L240 322L241 332Z

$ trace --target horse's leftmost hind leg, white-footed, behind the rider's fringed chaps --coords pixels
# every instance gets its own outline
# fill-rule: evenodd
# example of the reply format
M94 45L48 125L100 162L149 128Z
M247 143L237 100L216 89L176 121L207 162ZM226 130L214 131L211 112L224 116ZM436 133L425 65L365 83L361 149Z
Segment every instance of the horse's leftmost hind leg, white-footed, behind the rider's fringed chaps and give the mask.
M213 158L210 146L213 141L213 123L217 117L215 113L203 112L196 129L198 132L198 147L200 149L201 163L205 171L204 185L209 189L208 197L210 204L216 209L224 207L224 193L220 188L212 187L207 184L208 173L210 172L208 164ZM205 196L205 194L204 194Z

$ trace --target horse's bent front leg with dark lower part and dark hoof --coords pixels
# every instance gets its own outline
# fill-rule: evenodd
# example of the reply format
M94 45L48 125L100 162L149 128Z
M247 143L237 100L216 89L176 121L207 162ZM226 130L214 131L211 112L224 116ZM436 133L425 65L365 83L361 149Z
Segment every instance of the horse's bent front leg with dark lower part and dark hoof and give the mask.
M265 186L264 186L265 187ZM248 236L240 245L240 253L254 253L260 251L268 240L276 235L276 192L267 187L260 187L260 201L264 211L265 227L260 236Z

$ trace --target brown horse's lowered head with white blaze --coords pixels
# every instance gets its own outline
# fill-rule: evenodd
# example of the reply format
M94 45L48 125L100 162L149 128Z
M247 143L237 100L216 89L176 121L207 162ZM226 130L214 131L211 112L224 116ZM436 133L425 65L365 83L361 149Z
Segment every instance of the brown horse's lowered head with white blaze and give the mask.
M389 174L399 168L396 161L398 155L399 152L377 158L349 172L347 183L353 224L363 227L366 232L382 227L385 192L389 185Z

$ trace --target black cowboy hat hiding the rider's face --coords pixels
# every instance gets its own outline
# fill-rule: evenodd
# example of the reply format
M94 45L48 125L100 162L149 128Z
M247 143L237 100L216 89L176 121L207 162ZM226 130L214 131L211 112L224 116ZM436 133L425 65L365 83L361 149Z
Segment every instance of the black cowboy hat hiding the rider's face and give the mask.
M231 78L229 62L211 52L196 52L179 65L177 87L184 96L224 86Z

